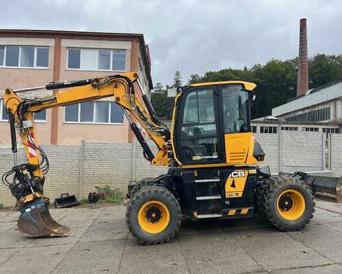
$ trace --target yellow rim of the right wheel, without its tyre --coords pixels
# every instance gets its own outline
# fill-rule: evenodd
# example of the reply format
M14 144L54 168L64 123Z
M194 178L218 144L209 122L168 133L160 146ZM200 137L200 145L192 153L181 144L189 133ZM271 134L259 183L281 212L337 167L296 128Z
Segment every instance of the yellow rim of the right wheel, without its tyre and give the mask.
M298 190L284 190L278 197L277 208L282 218L289 221L297 220L305 211L304 196Z

